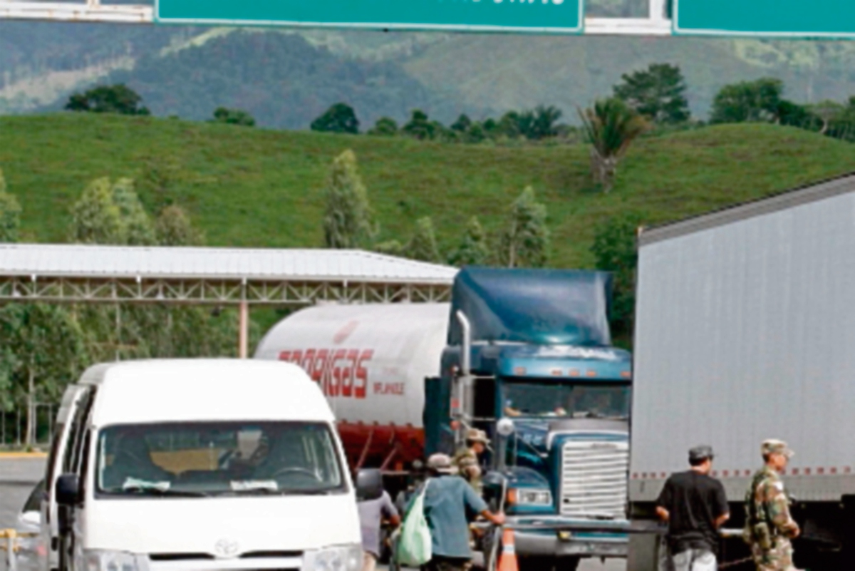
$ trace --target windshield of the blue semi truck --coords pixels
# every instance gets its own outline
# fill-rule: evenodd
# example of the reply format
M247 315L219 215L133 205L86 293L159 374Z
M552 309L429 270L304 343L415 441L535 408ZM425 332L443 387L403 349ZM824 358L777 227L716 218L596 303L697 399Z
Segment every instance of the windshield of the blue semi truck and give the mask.
M505 381L504 414L527 417L627 418L626 383Z

